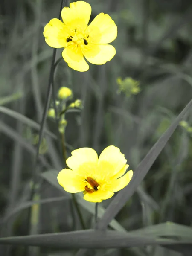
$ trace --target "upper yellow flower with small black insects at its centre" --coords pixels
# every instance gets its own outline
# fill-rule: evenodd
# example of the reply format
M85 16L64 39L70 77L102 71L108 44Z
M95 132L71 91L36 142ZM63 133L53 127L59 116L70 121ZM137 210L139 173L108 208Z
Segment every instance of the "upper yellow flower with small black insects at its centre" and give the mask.
M61 11L62 20L56 18L44 28L45 41L49 46L62 48L62 56L68 66L77 71L87 71L89 65L105 64L115 53L108 44L115 40L117 27L108 14L100 13L90 23L91 6L84 1L70 3Z

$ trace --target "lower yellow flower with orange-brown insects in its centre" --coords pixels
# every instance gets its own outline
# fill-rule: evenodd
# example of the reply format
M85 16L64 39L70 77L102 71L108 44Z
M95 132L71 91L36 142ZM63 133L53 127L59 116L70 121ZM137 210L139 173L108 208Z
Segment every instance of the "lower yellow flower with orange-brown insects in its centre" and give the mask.
M105 148L99 159L92 148L79 148L71 154L66 161L71 169L59 172L58 183L70 193L84 191L87 201L102 202L111 198L113 192L127 186L133 176L132 170L125 174L127 160L115 146Z

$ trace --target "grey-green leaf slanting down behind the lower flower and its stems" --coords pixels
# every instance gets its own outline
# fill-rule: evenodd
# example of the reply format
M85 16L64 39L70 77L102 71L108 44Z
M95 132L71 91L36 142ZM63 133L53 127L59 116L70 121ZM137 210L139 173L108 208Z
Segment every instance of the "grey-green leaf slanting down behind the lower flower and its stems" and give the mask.
M61 187L58 183L57 180L57 175L58 175L58 171L57 170L49 170L47 172L44 172L41 174L41 177L43 177L45 180L47 180L50 184L52 184L53 186L55 186L56 188L58 188L59 190L61 190L65 195L70 195L69 193L65 192L63 187ZM78 201L78 203L84 208L86 209L88 212L90 212L91 214L95 215L95 204L85 201L81 195L81 193L77 193L76 194L76 199ZM105 209L98 205L98 217L101 218L102 215L104 214ZM116 220L112 220L110 223L110 226L115 229L115 230L119 230L119 231L123 231L126 232L126 230L116 221Z

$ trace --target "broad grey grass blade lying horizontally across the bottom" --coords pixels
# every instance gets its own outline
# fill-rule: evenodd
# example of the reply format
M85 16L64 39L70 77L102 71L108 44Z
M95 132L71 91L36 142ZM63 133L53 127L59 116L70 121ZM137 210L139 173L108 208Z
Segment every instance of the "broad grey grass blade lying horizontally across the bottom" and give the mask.
M65 233L51 233L32 236L0 238L0 244L21 244L52 248L127 248L145 245L180 245L192 249L192 240L177 241L173 239L153 239L143 236L132 236L118 231L79 230Z

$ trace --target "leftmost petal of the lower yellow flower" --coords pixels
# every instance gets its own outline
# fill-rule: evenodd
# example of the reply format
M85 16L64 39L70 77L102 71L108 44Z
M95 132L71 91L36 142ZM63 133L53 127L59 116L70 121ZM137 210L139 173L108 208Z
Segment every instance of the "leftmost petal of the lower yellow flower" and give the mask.
M57 179L58 183L67 192L78 193L84 191L85 183L83 178L70 169L61 170L57 176Z

